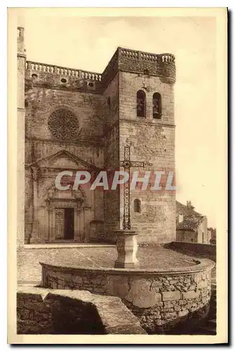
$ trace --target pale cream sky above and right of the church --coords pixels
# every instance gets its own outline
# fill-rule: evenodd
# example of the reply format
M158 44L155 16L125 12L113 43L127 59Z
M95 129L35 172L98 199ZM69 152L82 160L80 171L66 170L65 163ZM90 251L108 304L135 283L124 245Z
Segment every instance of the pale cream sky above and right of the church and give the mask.
M81 17L40 15L25 27L27 60L102 73L118 46L176 57L177 200L192 201L216 227L217 109L214 17Z

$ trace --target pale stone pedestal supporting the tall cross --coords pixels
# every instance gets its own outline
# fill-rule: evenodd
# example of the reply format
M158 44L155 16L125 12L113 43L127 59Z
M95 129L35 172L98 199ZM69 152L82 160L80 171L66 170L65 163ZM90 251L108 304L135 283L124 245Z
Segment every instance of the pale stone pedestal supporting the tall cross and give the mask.
M137 268L139 261L136 258L137 253L137 232L134 230L118 230L116 250L118 258L115 261L114 268Z

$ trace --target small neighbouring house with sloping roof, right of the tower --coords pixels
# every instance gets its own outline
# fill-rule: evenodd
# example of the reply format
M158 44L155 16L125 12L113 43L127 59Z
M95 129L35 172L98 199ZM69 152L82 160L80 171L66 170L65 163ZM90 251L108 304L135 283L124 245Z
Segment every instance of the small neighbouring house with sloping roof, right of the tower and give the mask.
M191 201L187 205L176 201L176 240L210 244L207 217L194 211Z

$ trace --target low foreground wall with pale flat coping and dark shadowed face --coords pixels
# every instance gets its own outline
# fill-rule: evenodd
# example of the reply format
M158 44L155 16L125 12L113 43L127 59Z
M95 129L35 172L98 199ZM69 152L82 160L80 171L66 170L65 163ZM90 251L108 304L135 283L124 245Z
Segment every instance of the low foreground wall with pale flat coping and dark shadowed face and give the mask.
M17 315L18 334L145 334L119 298L88 291L21 288Z

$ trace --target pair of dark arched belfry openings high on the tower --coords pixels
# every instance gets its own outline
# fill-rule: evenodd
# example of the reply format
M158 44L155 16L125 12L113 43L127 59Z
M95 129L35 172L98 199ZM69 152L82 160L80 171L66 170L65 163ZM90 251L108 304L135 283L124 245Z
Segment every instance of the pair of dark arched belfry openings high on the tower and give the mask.
M139 90L136 95L137 117L146 117L146 94ZM161 119L161 94L154 93L152 98L152 116L154 119Z

